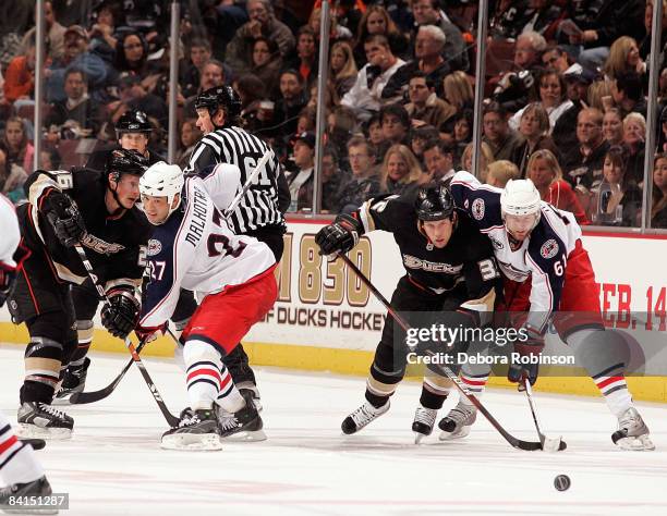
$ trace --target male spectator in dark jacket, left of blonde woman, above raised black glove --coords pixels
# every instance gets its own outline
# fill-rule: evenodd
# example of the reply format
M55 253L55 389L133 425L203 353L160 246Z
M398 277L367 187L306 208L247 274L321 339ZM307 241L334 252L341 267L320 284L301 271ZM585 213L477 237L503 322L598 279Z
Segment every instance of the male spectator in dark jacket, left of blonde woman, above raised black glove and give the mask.
M383 36L384 37L384 36ZM347 183L340 195L337 212L351 213L362 202L378 195L380 191L379 180L366 138L353 136L348 142L348 158L352 179Z

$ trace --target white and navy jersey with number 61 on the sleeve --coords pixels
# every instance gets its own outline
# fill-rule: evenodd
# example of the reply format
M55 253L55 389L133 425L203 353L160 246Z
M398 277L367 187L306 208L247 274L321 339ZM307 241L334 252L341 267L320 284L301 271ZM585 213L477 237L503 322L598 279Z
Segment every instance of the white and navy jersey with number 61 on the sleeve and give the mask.
M558 309L568 256L581 238L574 216L542 201L539 222L521 247L512 251L500 214L502 191L481 184L469 172L458 172L450 188L457 208L464 210L490 238L505 275L521 283L531 275L529 323L543 329L548 315Z

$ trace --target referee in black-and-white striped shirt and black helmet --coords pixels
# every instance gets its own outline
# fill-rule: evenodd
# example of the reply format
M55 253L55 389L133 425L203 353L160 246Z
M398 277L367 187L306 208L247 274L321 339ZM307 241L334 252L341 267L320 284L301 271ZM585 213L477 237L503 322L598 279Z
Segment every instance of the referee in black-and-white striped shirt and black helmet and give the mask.
M185 175L198 175L206 179L215 171L218 163L237 165L241 171L239 189L245 184L256 163L269 146L255 135L239 127L241 100L229 86L209 88L197 97L197 126L204 133L192 152ZM216 202L215 193L210 193ZM286 231L283 213L290 205L290 192L278 159L274 156L264 165L257 180L251 185L239 207L229 218L230 226L238 235L254 236L269 246L276 261L280 261L283 250L282 235ZM226 211L227 206L216 206ZM194 314L196 304L191 293L182 291L179 306L173 315L177 329L185 328ZM241 391L250 391L259 405L255 374L250 367L248 358L239 344L225 357L234 382Z

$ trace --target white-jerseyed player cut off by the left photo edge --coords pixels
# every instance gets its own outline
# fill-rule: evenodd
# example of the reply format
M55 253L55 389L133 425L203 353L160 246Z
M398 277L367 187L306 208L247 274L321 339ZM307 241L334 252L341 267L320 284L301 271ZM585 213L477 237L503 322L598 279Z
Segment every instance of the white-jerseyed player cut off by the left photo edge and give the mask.
M0 194L0 307L4 305L16 278L16 248L21 241L19 221L10 200ZM9 419L0 413L0 509L10 508L10 496L48 496L51 487L29 444L20 441ZM58 511L40 514L56 514ZM22 514L35 514L25 509Z

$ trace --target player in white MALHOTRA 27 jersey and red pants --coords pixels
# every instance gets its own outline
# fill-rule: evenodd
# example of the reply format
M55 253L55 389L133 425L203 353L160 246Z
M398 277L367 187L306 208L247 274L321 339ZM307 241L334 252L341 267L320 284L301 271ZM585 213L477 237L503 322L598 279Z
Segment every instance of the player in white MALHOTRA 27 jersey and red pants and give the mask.
M238 169L237 169L238 170ZM215 174L229 205L239 179L233 169ZM233 185L231 187L226 184ZM262 419L250 393L241 395L222 357L238 345L277 298L276 259L254 237L235 235L214 206L201 177L183 177L178 165L150 167L140 182L144 211L156 225L149 242L145 303L135 332L146 337L172 316L181 288L199 306L183 330L191 410L162 435L162 447L219 450L220 438L256 432Z

